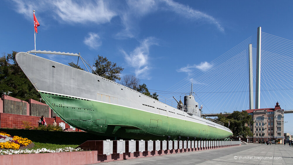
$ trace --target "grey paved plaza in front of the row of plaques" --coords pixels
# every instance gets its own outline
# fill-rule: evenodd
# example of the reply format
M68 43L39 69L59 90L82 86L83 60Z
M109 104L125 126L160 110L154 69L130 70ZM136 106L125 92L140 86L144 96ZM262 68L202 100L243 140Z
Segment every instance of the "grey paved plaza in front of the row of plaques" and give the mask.
M293 147L288 144L242 144L241 146L162 156L113 161L102 164L293 164Z

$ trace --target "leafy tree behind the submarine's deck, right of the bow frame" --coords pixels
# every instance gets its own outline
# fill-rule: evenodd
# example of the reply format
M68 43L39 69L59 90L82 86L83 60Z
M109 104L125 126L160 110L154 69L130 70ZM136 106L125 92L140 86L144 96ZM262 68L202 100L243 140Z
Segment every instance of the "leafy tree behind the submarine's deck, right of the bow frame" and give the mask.
M108 61L106 57L99 56L95 60L93 67L96 68L96 72L92 71L93 74L98 74L106 79L116 81L121 80L120 74L124 68L117 66L116 63Z

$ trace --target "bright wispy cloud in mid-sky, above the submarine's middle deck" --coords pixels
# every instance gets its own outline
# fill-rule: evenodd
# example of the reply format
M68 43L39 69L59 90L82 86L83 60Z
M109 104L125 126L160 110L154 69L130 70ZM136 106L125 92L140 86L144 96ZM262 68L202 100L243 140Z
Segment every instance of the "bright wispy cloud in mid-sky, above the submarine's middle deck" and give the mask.
M143 40L138 47L132 52L127 54L124 50L121 52L124 54L125 61L130 67L135 69L135 75L141 79L150 79L149 69L149 47L151 45L157 45L156 39L153 37Z

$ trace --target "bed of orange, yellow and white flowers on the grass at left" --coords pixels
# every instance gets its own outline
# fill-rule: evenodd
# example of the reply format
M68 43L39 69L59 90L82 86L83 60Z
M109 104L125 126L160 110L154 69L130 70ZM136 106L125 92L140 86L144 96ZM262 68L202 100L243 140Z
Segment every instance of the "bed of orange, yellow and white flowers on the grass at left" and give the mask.
M10 136L6 132L0 132L0 148L4 149L19 149L21 146L27 146L32 143L28 138L19 136Z

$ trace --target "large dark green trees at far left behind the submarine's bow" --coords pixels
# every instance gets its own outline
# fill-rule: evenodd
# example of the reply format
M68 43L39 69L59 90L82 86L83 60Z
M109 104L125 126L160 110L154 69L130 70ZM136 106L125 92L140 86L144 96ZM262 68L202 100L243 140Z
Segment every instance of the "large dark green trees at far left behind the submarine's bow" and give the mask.
M16 63L17 53L4 53L0 58L0 95L6 94L24 101L29 98L39 100L40 94Z

